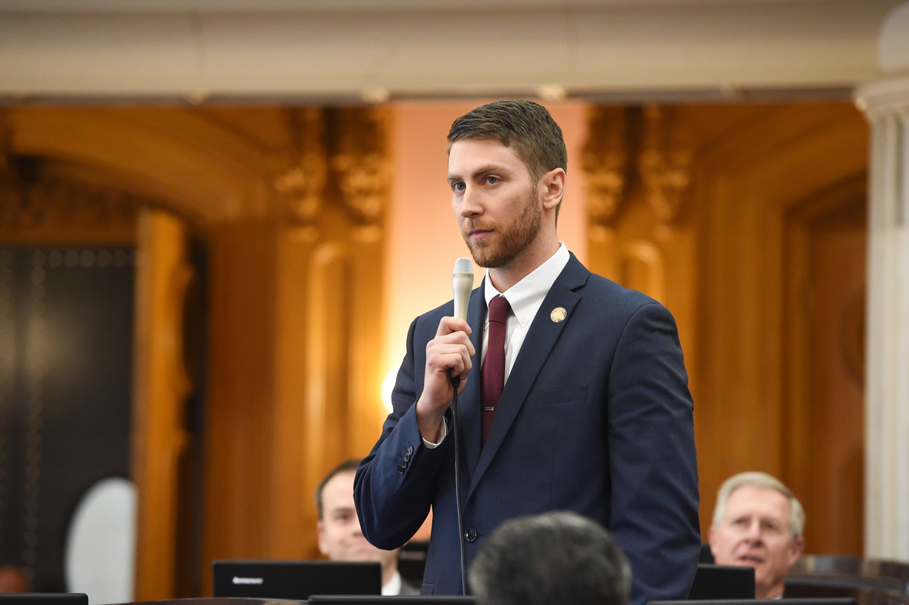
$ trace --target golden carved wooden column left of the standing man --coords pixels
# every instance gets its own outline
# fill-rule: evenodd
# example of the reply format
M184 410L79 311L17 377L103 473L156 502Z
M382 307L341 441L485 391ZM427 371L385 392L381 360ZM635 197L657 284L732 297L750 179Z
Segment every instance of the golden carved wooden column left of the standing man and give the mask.
M309 558L315 485L364 456L383 418L382 218L390 188L385 114L288 112L295 149L275 180L276 376L269 556Z

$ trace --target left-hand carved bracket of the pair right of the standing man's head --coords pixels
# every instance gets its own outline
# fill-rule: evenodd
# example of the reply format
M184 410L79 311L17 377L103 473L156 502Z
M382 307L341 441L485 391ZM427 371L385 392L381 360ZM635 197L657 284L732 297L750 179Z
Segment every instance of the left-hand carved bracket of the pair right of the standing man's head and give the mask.
M624 202L628 170L627 110L591 107L581 165L587 177L587 214L594 225L610 226Z

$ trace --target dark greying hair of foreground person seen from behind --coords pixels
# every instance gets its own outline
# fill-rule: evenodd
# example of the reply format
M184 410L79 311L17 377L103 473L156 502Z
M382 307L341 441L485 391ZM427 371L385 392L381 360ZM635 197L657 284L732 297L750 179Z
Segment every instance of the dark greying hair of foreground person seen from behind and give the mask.
M569 511L505 521L468 573L478 605L627 605L631 567L605 528Z

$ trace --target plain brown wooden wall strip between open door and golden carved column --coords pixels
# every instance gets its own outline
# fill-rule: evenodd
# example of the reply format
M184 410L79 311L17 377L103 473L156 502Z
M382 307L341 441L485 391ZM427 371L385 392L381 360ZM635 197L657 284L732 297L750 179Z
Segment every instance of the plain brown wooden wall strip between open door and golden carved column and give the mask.
M275 222L218 224L211 254L205 555L267 557L274 426Z

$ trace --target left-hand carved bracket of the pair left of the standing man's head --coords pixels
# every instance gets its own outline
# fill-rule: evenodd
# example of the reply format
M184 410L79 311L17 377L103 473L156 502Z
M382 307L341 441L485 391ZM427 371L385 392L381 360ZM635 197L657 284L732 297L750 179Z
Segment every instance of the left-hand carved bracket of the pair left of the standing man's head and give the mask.
M291 134L295 140L294 163L275 179L275 190L284 200L285 212L295 223L312 224L325 194L328 162L323 138L325 112L320 107L291 109Z

